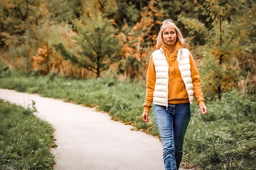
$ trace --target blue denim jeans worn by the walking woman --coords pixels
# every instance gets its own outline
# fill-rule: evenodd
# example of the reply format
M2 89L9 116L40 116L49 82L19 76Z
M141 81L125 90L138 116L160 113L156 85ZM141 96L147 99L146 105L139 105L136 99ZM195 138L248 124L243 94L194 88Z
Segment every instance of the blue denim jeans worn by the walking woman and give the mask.
M191 117L190 104L154 106L155 123L159 130L165 170L178 170L183 155L183 140Z

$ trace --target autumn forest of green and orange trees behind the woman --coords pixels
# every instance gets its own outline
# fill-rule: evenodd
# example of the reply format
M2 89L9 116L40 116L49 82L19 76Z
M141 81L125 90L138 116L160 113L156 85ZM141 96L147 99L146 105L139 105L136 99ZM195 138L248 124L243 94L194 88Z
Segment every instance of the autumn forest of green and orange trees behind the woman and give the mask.
M233 122L233 131L225 128L223 131L232 131L233 135L239 132L239 137L243 136L240 134L243 130L250 132L246 139L243 136L249 143L237 150L229 148L225 154L218 152L220 143L227 144L236 137L222 134L222 138L226 137L225 142L218 143L216 135L221 136L220 130L211 134L211 139L204 138L204 141L211 141L211 147L206 147L210 145L207 143L202 149L202 139L193 136L193 130L186 144L189 146L191 140L190 148L202 150L195 155L204 155L211 148L210 155L207 154L211 161L204 162L208 169L214 169L216 165L221 165L222 169L247 169L251 165L248 160L255 160L256 155L256 137L251 133L255 131L252 130L255 127L256 92L255 0L1 0L2 83L3 74L12 70L30 77L48 76L50 80L58 77L66 81L96 79L108 82L110 87L127 80L133 82L132 85L144 84L157 33L166 18L172 18L182 28L186 38L184 47L191 51L198 65L208 104L218 112L224 105L225 109L229 106L232 110L235 102L237 108L244 109L241 112L245 116L241 118L238 110L217 115L213 109L212 115L198 119L213 122L234 118L241 126L234 128ZM110 82L110 75L118 77L116 82ZM137 98L141 100L144 94L139 93ZM115 119L119 119L117 117ZM141 127L141 124L137 123L138 129L150 132L149 125ZM207 132L200 135L207 136ZM193 140L199 142L196 146L199 148ZM234 156L241 152L239 158ZM202 163L195 155L188 154L186 160L192 157L192 163ZM220 157L226 158L224 163ZM255 163L252 165L255 168Z

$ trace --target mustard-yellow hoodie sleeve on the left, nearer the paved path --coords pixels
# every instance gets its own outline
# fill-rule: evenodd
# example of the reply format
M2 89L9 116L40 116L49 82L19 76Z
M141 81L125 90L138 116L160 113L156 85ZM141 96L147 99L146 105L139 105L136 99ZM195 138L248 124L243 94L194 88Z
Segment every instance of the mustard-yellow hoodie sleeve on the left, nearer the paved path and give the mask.
M150 61L148 64L148 72L146 77L146 99L144 106L144 112L149 112L150 108L152 107L153 101L153 93L155 91L155 65L153 62L153 56L151 55Z

